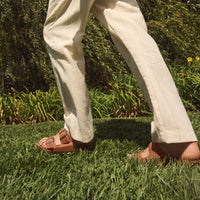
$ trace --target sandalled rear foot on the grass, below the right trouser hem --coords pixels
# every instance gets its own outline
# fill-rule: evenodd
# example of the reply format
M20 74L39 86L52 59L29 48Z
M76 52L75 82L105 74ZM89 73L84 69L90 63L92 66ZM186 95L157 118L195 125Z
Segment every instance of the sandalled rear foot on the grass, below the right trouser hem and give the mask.
M195 161L200 159L200 151L197 142L174 144L151 142L146 149L135 155L129 154L128 156L129 158L134 157L141 162L146 162L150 159L157 161L163 161L165 159L168 162L169 158Z

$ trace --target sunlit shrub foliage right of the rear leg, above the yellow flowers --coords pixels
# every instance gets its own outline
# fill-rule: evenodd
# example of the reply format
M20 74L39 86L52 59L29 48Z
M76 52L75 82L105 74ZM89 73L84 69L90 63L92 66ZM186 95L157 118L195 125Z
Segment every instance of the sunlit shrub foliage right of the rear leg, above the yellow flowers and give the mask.
M198 0L139 1L149 33L169 63L183 64L200 54L200 4Z

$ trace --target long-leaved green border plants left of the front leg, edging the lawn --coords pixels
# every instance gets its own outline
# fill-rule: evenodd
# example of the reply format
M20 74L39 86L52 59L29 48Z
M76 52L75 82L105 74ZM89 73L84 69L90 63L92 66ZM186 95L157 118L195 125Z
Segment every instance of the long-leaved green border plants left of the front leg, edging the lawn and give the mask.
M63 108L58 90L20 92L0 96L0 124L36 123L61 120Z

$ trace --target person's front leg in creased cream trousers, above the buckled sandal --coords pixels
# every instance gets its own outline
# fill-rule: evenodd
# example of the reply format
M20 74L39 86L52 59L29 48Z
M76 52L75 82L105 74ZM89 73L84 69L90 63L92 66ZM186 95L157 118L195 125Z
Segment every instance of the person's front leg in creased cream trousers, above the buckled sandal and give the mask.
M44 26L44 39L64 107L65 129L73 140L82 143L94 137L81 47L93 3L94 0L50 0ZM43 138L39 145L46 140Z

